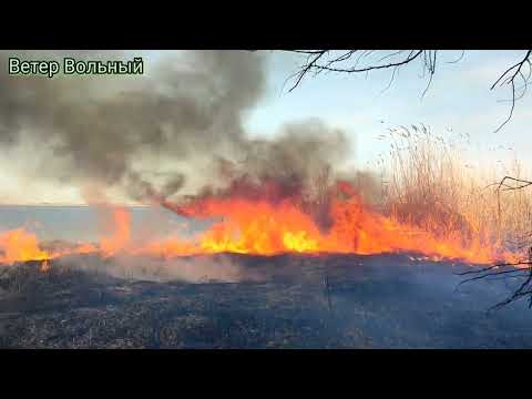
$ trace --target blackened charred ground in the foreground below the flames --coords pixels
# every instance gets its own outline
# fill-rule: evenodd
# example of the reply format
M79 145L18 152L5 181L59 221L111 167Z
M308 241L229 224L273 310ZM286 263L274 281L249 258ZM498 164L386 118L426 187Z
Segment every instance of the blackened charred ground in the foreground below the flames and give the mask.
M213 256L216 262L221 255ZM526 304L487 311L509 280L403 255L223 255L237 283L154 282L75 263L0 269L3 348L525 348ZM104 263L104 260L102 260ZM223 266L222 266L223 267Z

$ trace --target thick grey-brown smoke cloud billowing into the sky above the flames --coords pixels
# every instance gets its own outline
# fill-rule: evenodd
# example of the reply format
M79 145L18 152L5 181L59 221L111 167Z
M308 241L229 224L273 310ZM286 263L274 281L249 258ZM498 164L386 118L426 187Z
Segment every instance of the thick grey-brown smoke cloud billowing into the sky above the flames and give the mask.
M8 75L10 55L61 62L123 54L0 53L0 145L39 143L42 153L31 156L40 178L75 185L88 202L105 201L113 187L160 201L191 180L204 190L243 175L300 190L348 154L345 133L319 120L286 124L270 141L248 137L243 122L266 88L262 53L188 51L145 66L143 76L53 79Z

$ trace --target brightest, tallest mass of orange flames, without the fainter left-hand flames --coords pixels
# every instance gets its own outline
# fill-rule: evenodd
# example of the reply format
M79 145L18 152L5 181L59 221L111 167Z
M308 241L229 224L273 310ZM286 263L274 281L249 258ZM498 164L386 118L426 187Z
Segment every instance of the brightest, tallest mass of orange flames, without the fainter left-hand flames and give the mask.
M192 254L282 253L382 254L418 253L432 259L458 259L489 264L495 259L515 262L515 255L482 237L464 241L460 232L436 236L418 226L400 223L366 208L357 196L335 200L330 205L332 226L323 232L311 216L291 201L272 204L245 198L207 200L186 212L195 216L223 216L193 241L152 243L139 253L161 250L166 257ZM438 226L444 227L444 226Z

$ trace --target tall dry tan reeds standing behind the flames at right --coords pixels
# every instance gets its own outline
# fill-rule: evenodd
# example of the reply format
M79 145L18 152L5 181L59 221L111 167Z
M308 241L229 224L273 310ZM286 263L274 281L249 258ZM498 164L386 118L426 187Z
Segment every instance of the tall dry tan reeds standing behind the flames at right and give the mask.
M529 246L532 196L526 190L500 190L503 175L493 164L472 167L459 143L426 126L392 130L389 156L380 161L385 212L437 237L494 247L515 255ZM522 177L514 161L508 172Z

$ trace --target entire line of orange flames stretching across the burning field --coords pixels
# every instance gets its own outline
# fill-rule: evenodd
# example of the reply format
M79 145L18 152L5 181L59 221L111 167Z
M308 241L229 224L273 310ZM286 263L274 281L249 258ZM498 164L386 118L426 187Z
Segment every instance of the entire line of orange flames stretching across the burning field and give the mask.
M89 253L102 257L124 253L163 258L215 253L412 253L418 254L418 258L471 264L518 260L516 254L483 234L466 237L456 226L431 217L430 213L423 227L419 223L400 222L393 215L365 206L348 184L339 184L337 188L342 195L329 198L327 209L331 222L327 228L320 227L311 213L304 211L298 197L206 196L180 207L163 204L182 215L222 218L194 237L174 235L133 246L131 215L119 207L113 212L112 234L102 237L98 245L82 243L73 249L45 252L33 234L23 229L6 232L0 235L0 264L44 260L41 269L48 269L50 259Z

